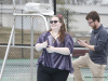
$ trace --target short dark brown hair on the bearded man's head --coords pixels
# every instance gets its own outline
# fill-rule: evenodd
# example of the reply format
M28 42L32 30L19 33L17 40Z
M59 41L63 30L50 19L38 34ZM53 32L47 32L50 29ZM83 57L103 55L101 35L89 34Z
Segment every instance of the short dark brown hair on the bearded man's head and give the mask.
M98 13L97 13L96 11L91 11L91 12L86 15L85 19L86 19L86 21L93 19L93 22L95 22L95 19L97 19L98 23L100 22L99 15L98 15Z

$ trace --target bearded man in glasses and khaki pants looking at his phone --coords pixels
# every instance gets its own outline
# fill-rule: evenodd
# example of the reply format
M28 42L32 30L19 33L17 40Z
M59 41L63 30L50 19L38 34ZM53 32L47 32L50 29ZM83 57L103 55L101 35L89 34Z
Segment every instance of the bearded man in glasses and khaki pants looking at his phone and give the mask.
M96 11L90 12L85 18L89 26L93 29L90 44L83 40L79 40L78 43L81 46L87 48L90 51L84 56L80 56L72 62L75 69L73 76L76 81L84 81L80 68L89 67L93 75L93 81L103 81L105 67L107 65L107 30L99 23L99 15Z

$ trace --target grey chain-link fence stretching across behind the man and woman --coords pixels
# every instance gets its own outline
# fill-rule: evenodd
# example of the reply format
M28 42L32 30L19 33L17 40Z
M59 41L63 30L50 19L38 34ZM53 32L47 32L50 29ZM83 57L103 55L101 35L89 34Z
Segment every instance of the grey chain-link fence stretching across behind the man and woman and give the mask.
M52 8L54 0L33 0L39 3L50 3ZM31 0L16 0L16 13L24 13L24 5ZM91 11L97 11L100 15L102 24L107 28L108 23L108 4L102 4L103 0L56 0L56 14L62 14L65 18L67 31L75 41L75 51L72 59L87 52L84 48L79 48L77 40L90 41L91 27L85 21L85 16ZM11 29L13 27L13 1L0 0L0 68L5 55L6 45L10 39ZM30 81L30 16L16 16L14 42L16 46L12 46L9 52L2 81ZM48 18L49 23L50 18ZM44 22L41 17L33 18L33 44L39 36L45 31ZM12 41L12 42L13 42ZM27 48L17 48L24 45ZM77 49L77 50L76 50ZM37 60L41 53L33 50L33 81L37 81ZM89 68L81 69L85 81L93 81L92 73ZM108 66L105 71L104 81L108 80ZM86 77L86 78L85 78ZM68 81L73 81L72 75Z

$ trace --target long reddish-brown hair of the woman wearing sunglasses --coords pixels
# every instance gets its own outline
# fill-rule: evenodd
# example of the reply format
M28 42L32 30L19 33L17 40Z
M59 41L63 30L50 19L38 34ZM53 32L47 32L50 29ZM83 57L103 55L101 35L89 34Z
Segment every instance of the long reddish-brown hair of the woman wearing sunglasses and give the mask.
M60 41L60 44L64 43L65 41L65 32L66 32L66 27L65 27L65 23L64 23L64 17L62 15L54 15L53 17L58 17L59 23L62 23L60 29L59 29L59 38L58 40ZM51 31L52 29L50 29L49 31Z

